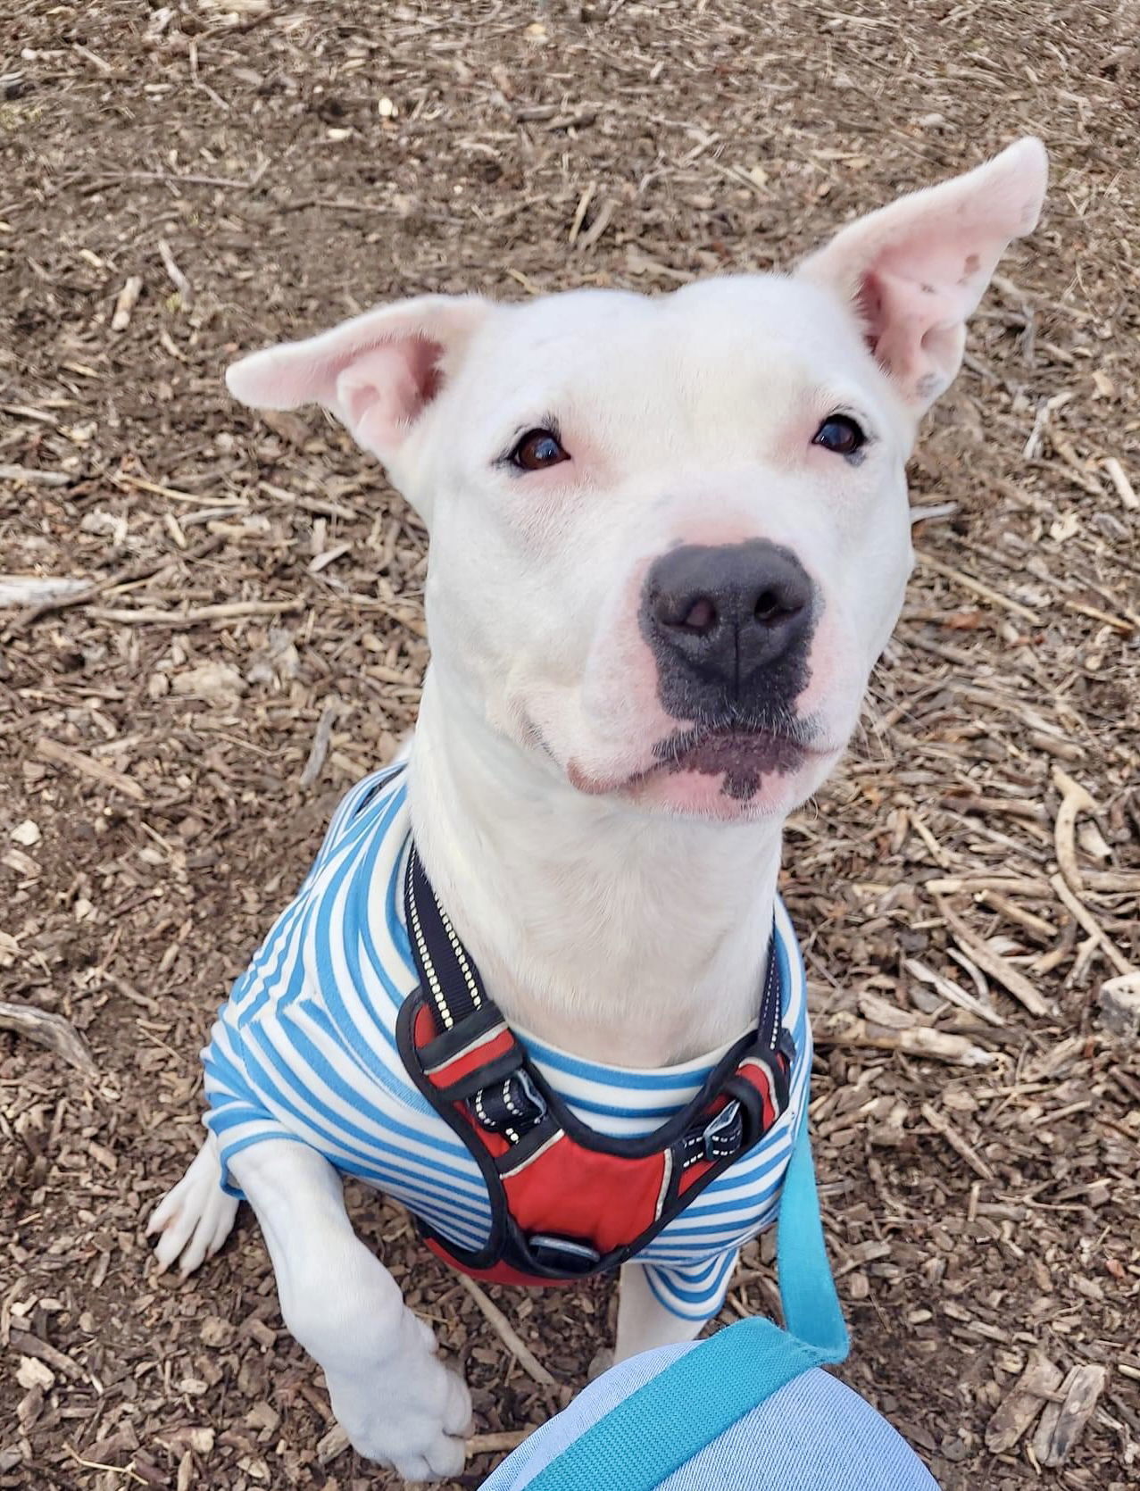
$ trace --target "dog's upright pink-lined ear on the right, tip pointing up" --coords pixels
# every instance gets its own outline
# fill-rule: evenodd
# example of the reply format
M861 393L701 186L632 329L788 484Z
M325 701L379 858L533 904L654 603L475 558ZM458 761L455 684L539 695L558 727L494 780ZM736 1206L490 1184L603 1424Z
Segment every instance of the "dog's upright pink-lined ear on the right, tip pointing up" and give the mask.
M1027 136L966 176L843 228L797 274L836 289L903 401L921 414L954 380L966 321L1012 239L1031 233L1048 157Z

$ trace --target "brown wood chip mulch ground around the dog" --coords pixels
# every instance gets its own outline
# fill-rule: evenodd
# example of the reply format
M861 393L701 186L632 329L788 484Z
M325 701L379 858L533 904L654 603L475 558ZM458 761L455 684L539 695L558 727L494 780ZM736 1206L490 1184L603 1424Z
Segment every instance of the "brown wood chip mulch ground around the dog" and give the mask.
M0 581L0 999L94 1069L0 1033L0 1488L390 1484L249 1218L185 1285L142 1236L212 1012L426 658L417 522L227 361L428 289L787 264L1025 130L1048 215L925 426L909 604L785 892L843 1376L946 1488L1137 1484L1140 1062L1098 993L1140 965L1139 36L1134 0L3 7L0 571L86 587ZM355 1203L480 1434L583 1384L607 1287L495 1291L544 1387ZM761 1243L726 1318L772 1300Z

